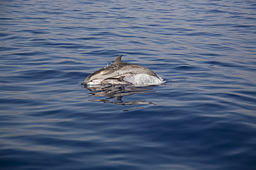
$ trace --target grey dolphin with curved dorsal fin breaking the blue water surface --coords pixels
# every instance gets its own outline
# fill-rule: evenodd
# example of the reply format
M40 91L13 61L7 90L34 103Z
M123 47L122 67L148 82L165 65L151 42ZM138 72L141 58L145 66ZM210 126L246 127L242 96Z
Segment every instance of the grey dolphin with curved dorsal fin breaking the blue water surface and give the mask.
M160 80L156 73L149 70L147 67L123 63L121 58L122 55L118 56L111 65L87 76L83 84L86 85L90 82L98 82L100 84L131 85L132 83L125 81L124 78L131 77L136 74L148 74L149 76L155 76Z

